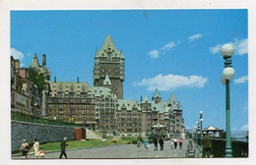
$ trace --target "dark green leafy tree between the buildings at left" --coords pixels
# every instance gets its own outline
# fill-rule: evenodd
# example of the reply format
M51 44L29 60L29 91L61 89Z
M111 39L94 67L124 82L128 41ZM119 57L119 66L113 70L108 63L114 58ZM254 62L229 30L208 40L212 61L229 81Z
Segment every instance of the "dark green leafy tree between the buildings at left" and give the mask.
M37 86L38 94L41 95L41 91L45 88L46 76L40 73L39 70L30 67L29 68L29 78L32 83Z

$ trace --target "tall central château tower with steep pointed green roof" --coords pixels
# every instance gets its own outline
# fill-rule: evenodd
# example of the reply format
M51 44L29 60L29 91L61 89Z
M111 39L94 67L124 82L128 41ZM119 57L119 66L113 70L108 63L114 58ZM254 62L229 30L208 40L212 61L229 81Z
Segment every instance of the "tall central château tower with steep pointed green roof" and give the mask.
M123 99L124 57L122 51L116 49L109 34L101 49L96 48L94 85L104 86L106 76L110 80L112 93L118 99Z

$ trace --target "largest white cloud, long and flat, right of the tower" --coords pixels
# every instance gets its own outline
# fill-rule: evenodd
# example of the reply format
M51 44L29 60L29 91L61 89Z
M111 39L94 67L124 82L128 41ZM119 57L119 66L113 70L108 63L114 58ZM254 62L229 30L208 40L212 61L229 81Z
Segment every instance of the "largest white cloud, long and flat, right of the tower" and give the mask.
M155 78L144 78L140 83L135 83L140 86L147 86L148 90L155 90L159 88L162 91L172 90L178 87L204 87L208 81L207 78L201 76L179 76L179 75L166 75L161 74Z

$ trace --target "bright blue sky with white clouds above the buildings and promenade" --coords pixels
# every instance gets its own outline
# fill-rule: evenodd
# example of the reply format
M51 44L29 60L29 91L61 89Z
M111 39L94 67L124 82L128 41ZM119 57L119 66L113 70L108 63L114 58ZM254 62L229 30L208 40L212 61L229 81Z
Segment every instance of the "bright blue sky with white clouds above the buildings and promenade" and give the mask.
M231 131L248 130L247 10L12 11L11 55L30 67L46 54L51 80L93 85L96 48L109 34L125 58L124 99L163 100L173 92L187 129L199 121L225 130L221 83L224 43L234 48L230 83Z

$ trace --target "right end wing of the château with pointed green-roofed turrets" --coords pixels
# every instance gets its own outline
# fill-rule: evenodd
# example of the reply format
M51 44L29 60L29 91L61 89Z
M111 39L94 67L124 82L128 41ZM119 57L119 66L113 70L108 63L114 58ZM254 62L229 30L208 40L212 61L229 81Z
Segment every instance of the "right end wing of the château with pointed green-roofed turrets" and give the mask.
M153 132L154 126L160 124L164 128L161 133L172 135L181 134L184 128L182 109L174 93L171 93L168 101L162 100L158 88L155 90L152 100L145 96L140 103L143 111L143 133ZM155 130L157 132L157 130Z

